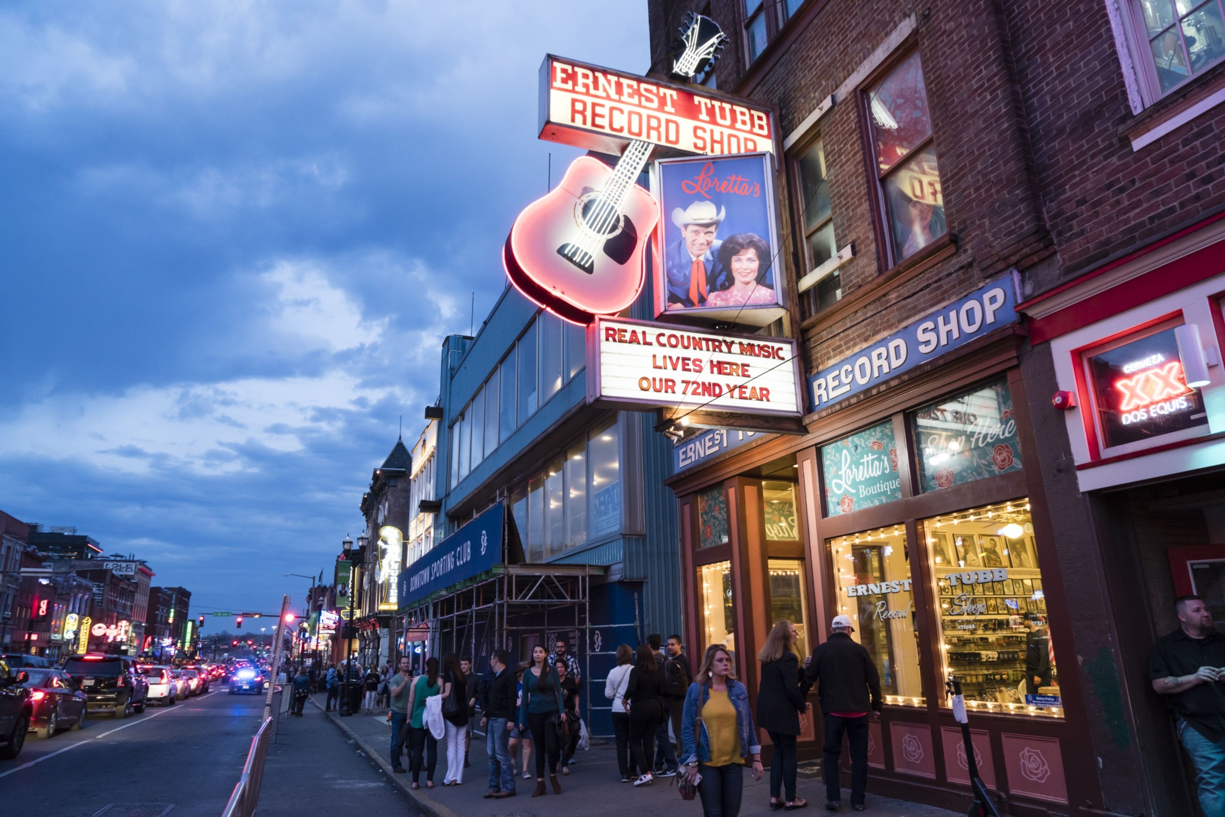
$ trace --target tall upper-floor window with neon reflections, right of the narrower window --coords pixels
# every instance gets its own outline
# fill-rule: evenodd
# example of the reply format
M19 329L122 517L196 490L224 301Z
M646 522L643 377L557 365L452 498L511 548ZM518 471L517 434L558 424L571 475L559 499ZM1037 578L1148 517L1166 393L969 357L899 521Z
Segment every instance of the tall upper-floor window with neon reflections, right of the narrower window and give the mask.
M869 91L867 109L889 257L898 263L948 232L919 51Z

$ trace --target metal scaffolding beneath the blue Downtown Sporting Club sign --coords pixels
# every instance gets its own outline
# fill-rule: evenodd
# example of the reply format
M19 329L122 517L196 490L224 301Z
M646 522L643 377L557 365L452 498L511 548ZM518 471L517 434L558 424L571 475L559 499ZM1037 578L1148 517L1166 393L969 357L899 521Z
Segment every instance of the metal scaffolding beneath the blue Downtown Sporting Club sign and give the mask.
M581 701L586 704L584 720L590 729L592 712L610 709L592 706L592 690L599 690L603 701L606 680L592 677L592 658L615 655L616 643L622 641L605 638L603 631L632 630L636 639L642 641L637 593L633 622L592 622L592 578L604 572L600 565L497 566L462 587L450 588L409 608L404 614L403 632L425 630L434 646L431 652L436 652L440 644L450 643L456 652L470 655L475 668L488 666L489 655L495 649L522 653L518 639L523 636L540 633L543 641L537 643L551 652L560 634L573 632L582 644L587 695Z

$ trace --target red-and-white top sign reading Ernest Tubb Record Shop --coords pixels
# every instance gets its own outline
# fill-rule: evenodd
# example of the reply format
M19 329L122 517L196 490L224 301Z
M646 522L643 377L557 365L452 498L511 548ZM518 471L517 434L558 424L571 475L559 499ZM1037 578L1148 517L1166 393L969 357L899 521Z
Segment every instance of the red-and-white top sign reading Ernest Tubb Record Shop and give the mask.
M698 87L550 54L540 65L540 138L606 153L631 140L712 156L774 152L769 108Z

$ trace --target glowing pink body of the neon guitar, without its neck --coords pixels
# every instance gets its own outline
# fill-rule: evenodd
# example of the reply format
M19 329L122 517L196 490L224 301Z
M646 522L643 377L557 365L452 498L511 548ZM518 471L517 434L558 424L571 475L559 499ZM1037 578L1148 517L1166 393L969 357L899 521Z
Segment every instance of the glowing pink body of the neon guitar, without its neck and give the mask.
M611 176L612 170L599 159L576 159L549 195L519 214L506 239L503 261L514 285L575 323L626 309L646 280L643 246L659 220L659 206L649 192L628 185L616 208L620 219L611 219L608 238L583 225L584 212L598 198L592 194L605 190ZM584 236L592 252L579 254L576 261L573 252L564 250L573 250Z

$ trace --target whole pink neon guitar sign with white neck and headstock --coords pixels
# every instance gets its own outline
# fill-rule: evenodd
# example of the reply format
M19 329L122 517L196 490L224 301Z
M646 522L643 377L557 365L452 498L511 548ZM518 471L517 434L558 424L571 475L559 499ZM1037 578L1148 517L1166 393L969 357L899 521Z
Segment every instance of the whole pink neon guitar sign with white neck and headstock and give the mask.
M724 33L709 17L690 15L674 73L691 78L718 55ZM655 198L635 184L657 137L628 143L616 167L581 157L561 183L514 220L502 261L529 300L572 323L626 309L646 282L646 243L659 220Z

